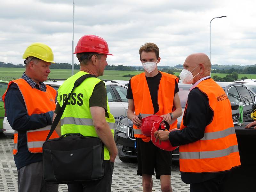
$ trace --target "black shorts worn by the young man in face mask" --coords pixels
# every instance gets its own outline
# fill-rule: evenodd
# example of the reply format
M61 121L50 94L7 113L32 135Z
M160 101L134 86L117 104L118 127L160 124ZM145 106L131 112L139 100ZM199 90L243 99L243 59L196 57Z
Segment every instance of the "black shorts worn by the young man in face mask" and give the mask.
M156 147L152 141L144 142L141 138L136 139L138 175L155 175L160 179L161 175L171 175L172 152Z

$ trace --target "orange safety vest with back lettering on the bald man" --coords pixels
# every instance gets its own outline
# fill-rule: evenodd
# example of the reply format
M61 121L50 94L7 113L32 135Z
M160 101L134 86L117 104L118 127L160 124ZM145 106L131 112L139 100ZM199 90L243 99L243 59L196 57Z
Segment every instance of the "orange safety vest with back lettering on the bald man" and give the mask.
M180 146L180 172L222 172L241 165L231 105L226 93L211 78L201 81L196 87L207 95L213 118L205 127L202 139ZM186 127L183 124L186 111L187 105L180 130Z

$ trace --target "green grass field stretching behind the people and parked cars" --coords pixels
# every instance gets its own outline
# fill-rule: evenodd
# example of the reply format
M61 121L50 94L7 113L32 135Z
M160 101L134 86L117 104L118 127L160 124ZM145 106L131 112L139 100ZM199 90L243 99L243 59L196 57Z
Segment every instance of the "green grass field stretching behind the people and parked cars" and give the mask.
M24 68L0 68L0 80L11 81L14 79L18 79L22 76ZM74 74L76 74L79 70L74 70ZM104 71L104 75L100 76L100 79L108 79L108 80L129 80L130 77L123 77L123 75L132 74L137 75L140 74L141 71ZM180 73L175 73L176 76L180 75ZM225 77L227 74L222 73L212 73L211 76L220 76ZM55 79L67 79L71 76L71 70L69 69L51 69L51 73L49 74L49 78ZM250 78L249 74L238 74L238 77L241 78L243 76L247 76ZM251 75L252 79L256 79L256 74Z

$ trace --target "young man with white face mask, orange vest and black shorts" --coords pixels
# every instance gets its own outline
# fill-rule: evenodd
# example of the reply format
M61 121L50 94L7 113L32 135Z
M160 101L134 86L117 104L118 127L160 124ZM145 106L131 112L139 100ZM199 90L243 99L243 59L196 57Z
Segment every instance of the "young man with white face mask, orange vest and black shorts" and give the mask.
M177 128L177 117L182 115L178 95L179 78L157 70L161 58L156 44L144 44L139 53L145 72L131 78L126 96L129 99L127 116L133 122L137 144L137 174L142 175L143 192L152 191L154 170L156 179L161 180L161 190L171 192L172 152L157 148L150 137L140 133L138 127L141 121L138 115L141 113L142 118L159 115L170 124L170 129Z

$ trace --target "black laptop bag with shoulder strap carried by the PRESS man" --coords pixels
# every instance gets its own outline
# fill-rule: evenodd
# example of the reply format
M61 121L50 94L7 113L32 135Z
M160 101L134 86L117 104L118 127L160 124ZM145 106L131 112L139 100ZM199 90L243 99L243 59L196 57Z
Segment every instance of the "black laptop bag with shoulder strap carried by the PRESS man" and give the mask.
M85 137L80 133L67 133L50 139L67 106L74 89L91 74L76 80L71 93L54 119L43 144L44 180L50 183L77 183L99 180L104 176L104 145L98 137Z

